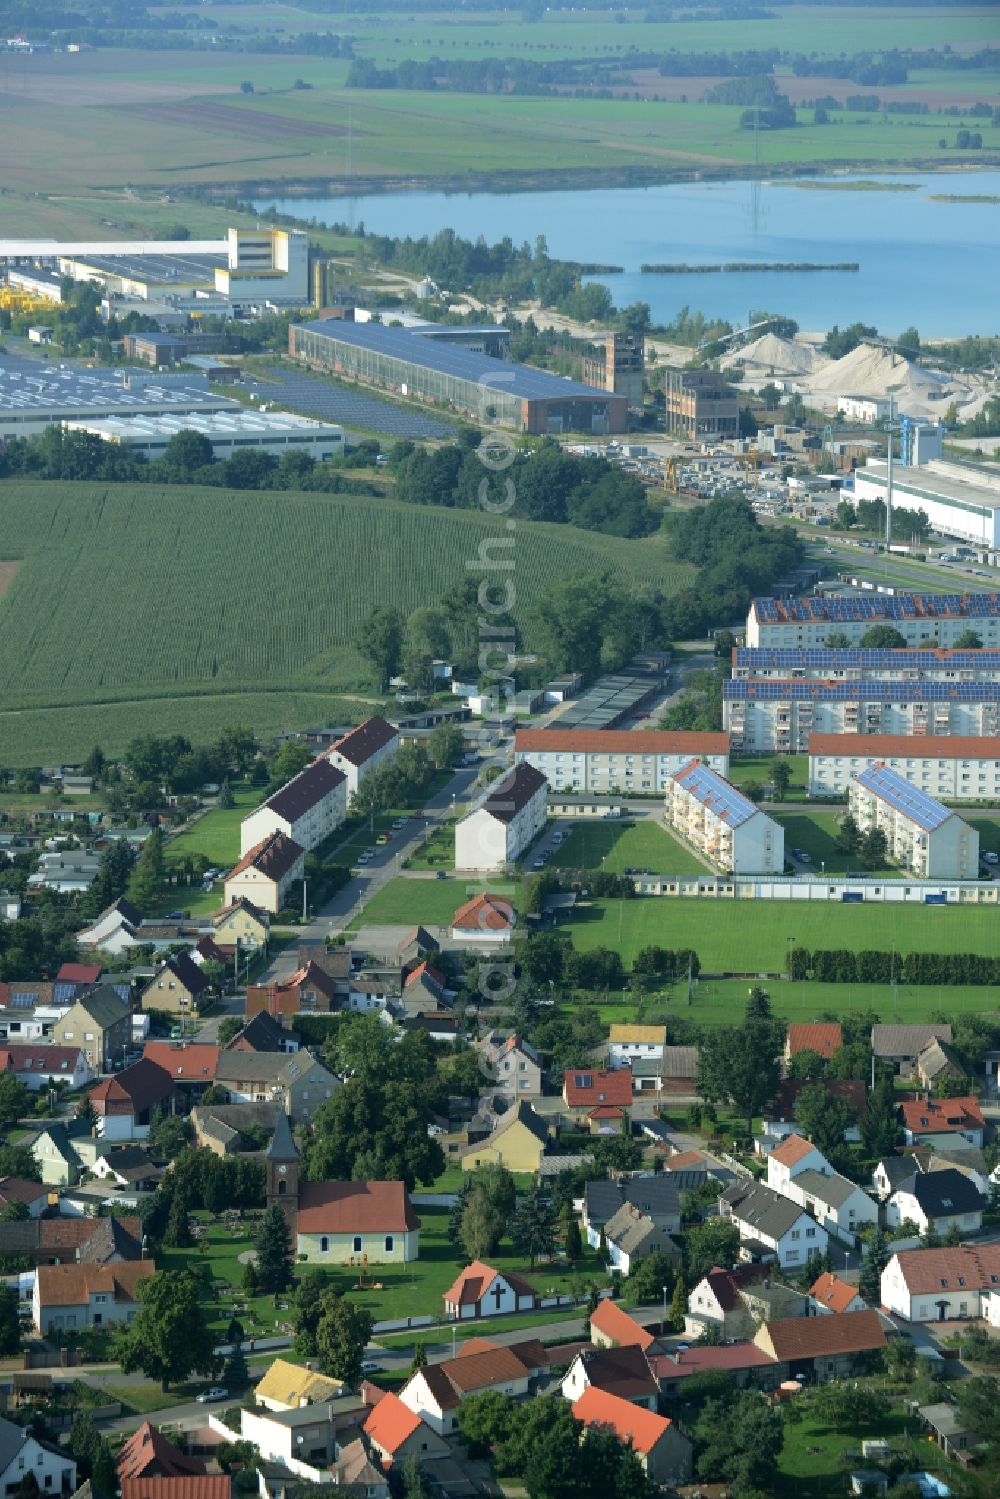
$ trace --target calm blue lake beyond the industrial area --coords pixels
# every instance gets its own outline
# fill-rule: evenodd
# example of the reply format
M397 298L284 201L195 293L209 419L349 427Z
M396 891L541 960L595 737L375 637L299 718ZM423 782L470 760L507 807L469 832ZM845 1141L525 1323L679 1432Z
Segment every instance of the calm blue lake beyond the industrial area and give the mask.
M838 183L850 178L832 178ZM319 223L364 223L379 234L451 228L490 243L544 234L558 258L622 265L603 276L615 303L648 301L657 322L685 304L744 322L751 307L784 312L802 328L861 319L894 336L1000 333L1000 202L939 202L940 193L1000 198L1000 172L865 174L907 192L798 187L793 180L670 183L579 192L394 192L261 198ZM826 178L831 181L831 178ZM642 274L661 262L858 261L858 271Z

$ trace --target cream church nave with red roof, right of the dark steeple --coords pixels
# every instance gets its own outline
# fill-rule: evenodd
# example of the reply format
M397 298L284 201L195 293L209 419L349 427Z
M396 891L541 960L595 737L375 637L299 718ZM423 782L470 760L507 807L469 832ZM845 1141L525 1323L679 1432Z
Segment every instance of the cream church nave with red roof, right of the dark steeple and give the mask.
M406 1265L420 1219L402 1181L303 1181L295 1249L313 1265Z

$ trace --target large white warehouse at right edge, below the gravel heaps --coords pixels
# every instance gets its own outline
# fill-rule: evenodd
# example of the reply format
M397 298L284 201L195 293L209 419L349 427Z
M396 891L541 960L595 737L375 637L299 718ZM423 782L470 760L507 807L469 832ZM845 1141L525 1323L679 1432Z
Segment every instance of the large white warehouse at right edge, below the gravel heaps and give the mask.
M855 496L882 499L889 487L888 465L865 463L855 471ZM895 463L892 504L922 510L933 531L996 547L1000 540L1000 475L966 463L931 459L919 468Z

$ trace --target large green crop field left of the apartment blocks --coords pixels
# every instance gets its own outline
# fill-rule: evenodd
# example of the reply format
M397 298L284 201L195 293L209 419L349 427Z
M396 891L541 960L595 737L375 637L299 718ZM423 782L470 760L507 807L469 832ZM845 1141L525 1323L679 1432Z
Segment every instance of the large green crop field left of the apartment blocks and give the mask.
M0 600L0 763L114 751L157 726L196 742L261 729L268 693L283 699L271 727L360 720L370 706L336 694L364 681L363 615L388 597L403 613L435 601L496 534L480 511L391 499L0 484L3 550L21 561ZM691 576L660 537L520 522L517 540L522 622L553 577L612 568L673 589Z

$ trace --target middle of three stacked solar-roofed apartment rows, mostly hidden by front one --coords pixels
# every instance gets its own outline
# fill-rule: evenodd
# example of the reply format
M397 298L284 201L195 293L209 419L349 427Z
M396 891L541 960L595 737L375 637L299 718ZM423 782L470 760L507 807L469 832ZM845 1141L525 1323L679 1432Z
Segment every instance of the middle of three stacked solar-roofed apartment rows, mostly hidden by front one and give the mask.
M1000 682L1000 651L862 651L861 646L735 646L738 681Z

